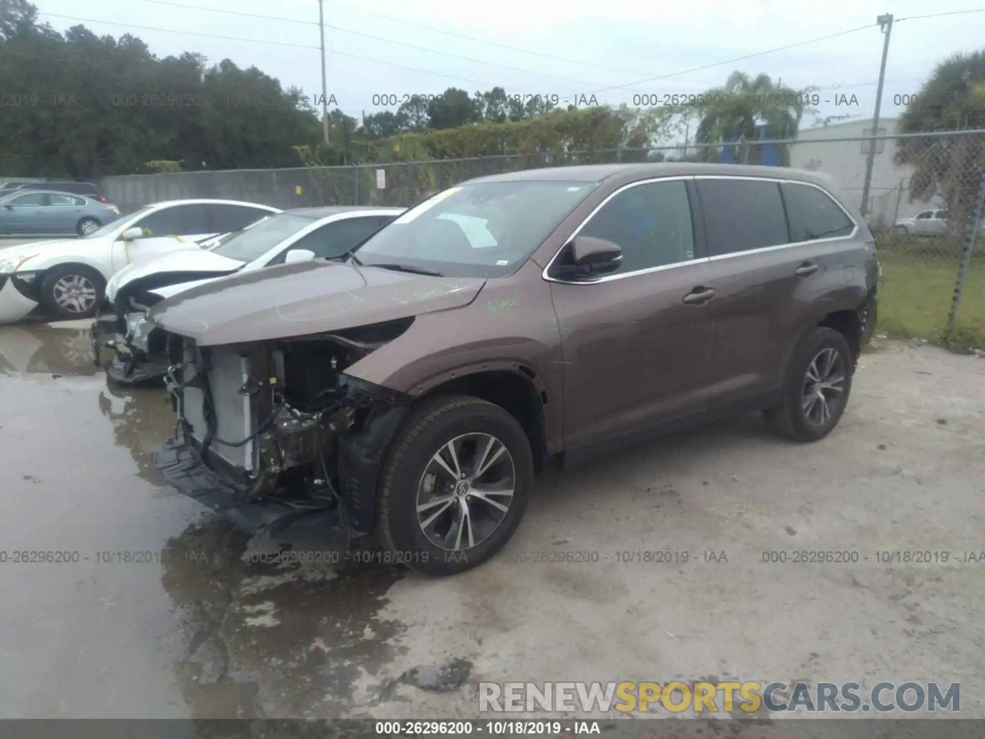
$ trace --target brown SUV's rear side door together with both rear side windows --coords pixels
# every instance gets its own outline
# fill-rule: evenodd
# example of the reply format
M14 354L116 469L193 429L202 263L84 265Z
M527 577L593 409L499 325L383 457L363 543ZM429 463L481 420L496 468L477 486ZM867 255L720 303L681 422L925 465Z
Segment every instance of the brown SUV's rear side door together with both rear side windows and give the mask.
M696 180L716 293L711 402L755 401L782 384L801 332L847 283L837 255L855 223L813 184Z

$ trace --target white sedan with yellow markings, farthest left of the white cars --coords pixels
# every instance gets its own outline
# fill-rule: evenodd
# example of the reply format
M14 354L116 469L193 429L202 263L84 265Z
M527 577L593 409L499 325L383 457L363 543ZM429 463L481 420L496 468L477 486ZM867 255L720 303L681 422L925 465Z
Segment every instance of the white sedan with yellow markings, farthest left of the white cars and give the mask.
M106 283L128 264L240 231L274 213L280 210L235 200L171 200L145 206L82 238L2 249L0 323L20 320L38 303L59 319L91 317Z

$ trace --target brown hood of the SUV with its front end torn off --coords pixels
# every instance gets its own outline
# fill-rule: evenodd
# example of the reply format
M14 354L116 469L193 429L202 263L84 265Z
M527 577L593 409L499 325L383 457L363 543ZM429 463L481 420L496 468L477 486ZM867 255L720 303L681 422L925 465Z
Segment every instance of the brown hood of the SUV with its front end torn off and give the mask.
M468 305L486 280L341 262L240 272L160 302L148 319L200 346L289 338Z

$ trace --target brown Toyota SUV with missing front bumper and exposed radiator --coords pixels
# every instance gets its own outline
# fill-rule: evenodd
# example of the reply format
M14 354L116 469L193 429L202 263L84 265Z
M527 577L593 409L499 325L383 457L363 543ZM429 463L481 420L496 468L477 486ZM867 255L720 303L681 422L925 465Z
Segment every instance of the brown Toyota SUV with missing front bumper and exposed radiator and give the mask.
M158 303L164 478L238 525L431 574L488 560L534 474L722 413L838 423L876 243L834 182L734 165L480 177L348 254ZM375 554L374 554L375 556Z

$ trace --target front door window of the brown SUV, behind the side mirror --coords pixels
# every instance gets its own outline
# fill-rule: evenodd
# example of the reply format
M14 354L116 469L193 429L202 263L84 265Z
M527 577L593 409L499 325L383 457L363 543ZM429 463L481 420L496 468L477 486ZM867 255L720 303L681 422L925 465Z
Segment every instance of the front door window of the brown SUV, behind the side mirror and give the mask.
M694 258L688 185L683 179L644 182L609 200L578 232L612 241L623 249L618 269L626 274Z

